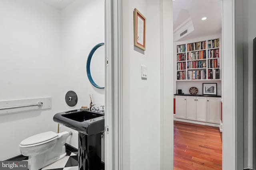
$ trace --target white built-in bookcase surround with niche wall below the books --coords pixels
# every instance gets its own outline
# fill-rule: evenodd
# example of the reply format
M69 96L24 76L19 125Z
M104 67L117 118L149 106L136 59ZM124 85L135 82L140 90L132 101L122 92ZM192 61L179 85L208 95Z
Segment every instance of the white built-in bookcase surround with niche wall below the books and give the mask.
M209 35L206 37L198 37L195 39L186 39L184 41L176 41L174 43L174 58L173 58L173 63L174 63L174 80L176 80L177 78L177 61L176 61L176 57L177 56L177 45L181 45L181 44L186 44L186 43L193 43L193 42L199 42L199 41L205 41L205 40L209 40L209 39L216 39L216 38L220 38L220 54L221 54L221 50L222 50L222 38L221 35ZM220 56L222 57L222 56ZM220 66L222 66L222 63L220 61ZM221 75L222 78L222 75ZM203 90L203 83L217 83L217 95L221 95L222 93L222 86L221 86L221 81L220 80L212 80L212 81L176 81L176 84L174 86L174 93L176 93L176 90L178 89L182 89L182 92L184 94L189 94L189 88L190 87L196 87L198 88L198 94L202 94L202 90Z

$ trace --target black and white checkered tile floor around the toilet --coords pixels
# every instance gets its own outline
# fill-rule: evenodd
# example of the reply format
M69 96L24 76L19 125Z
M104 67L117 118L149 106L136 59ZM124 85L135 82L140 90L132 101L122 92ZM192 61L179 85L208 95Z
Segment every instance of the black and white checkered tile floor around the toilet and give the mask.
M68 145L66 145L66 156L48 166L45 166L44 168L40 170L78 170L78 150L74 149ZM15 158L9 159L9 160L22 160L27 161L28 156L17 156ZM102 170L104 170L104 166L102 166Z

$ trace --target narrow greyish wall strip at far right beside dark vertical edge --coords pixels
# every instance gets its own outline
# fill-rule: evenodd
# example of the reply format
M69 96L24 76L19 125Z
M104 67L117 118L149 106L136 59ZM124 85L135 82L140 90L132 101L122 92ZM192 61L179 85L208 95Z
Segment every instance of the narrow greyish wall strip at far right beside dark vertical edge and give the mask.
M256 17L256 1L246 0L243 1L244 9L244 167L256 169L256 165L253 167L253 39L256 37L256 23L254 22ZM255 75L254 75L255 76ZM255 141L254 141L255 143Z

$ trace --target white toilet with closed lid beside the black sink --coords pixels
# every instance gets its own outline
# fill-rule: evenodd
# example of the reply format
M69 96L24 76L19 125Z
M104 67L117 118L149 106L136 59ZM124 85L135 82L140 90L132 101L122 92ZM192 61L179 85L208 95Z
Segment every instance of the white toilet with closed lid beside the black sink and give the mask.
M52 131L28 137L20 143L20 152L28 156L28 169L39 170L66 156L66 139L71 133Z

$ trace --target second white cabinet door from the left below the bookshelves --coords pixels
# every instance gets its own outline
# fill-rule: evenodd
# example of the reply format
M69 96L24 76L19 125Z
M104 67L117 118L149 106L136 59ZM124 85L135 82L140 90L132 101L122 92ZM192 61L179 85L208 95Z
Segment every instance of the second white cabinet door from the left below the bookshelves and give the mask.
M196 120L196 97L187 96L187 119Z

